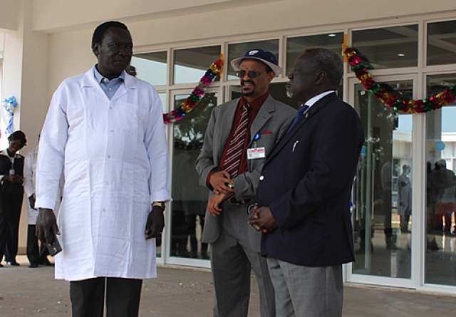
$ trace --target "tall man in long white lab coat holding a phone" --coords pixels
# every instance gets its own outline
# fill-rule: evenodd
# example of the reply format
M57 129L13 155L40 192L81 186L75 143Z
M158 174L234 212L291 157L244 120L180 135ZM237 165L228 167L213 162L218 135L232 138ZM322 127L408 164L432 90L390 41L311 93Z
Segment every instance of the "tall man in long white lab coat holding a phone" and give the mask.
M125 73L133 41L117 21L95 29L98 63L54 93L41 133L36 233L58 234L56 279L70 282L73 317L138 316L142 279L157 276L155 238L170 201L162 104ZM52 212L62 170L58 221Z

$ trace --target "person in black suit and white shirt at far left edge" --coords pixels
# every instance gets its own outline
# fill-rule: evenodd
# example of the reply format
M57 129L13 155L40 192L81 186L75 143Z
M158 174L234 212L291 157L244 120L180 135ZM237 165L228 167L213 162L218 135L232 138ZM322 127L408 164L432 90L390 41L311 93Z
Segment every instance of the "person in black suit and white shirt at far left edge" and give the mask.
M27 143L18 130L8 137L9 147L0 152L0 261L19 266L16 261L19 220L24 199L24 157L18 153ZM0 264L3 267L3 264Z

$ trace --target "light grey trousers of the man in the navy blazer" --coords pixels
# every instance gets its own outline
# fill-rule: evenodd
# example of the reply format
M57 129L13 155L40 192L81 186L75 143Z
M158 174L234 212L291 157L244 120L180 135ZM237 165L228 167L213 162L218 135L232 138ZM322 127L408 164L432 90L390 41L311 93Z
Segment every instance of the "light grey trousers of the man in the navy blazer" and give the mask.
M280 317L341 317L342 265L301 266L267 258Z

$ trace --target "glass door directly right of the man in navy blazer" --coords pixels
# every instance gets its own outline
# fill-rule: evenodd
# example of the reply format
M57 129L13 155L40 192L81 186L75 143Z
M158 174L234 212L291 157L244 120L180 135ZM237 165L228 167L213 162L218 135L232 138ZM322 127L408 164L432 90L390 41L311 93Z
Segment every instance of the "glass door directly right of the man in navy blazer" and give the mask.
M390 93L413 98L413 78L375 79ZM356 262L347 281L411 287L413 217L419 212L412 206L412 115L383 105L356 78L349 90L366 141L353 183Z

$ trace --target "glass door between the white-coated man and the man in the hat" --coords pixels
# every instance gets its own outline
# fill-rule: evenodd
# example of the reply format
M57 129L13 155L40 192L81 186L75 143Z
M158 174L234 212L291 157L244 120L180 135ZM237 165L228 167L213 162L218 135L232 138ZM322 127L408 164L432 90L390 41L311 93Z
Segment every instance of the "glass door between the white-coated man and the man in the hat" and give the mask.
M172 94L174 108L190 90ZM209 267L209 246L201 241L209 189L199 186L195 161L214 107L217 90L207 90L195 108L172 124L172 203L168 215L167 263ZM171 136L170 136L171 137Z

